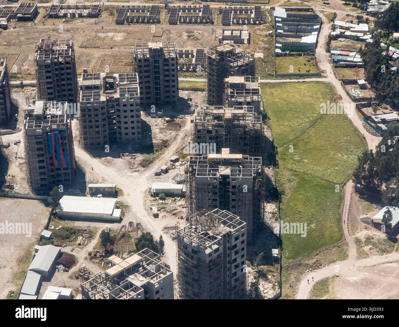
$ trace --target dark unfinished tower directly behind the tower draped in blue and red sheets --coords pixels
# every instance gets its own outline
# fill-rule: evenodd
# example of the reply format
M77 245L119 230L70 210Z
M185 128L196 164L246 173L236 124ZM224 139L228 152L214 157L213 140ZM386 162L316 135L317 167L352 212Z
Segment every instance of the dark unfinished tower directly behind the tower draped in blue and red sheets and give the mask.
M38 98L77 103L77 75L72 40L41 39L36 44Z

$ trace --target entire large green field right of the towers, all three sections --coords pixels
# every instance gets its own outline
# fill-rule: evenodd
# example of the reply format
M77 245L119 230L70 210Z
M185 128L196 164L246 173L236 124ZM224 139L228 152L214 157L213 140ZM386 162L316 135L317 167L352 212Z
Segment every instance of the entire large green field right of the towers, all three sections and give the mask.
M307 224L306 237L283 234L283 256L309 258L342 240L342 190L336 192L336 184L352 174L365 145L344 115L320 113L320 104L333 100L328 83L269 83L261 85L261 92L279 148L275 174L282 193L281 218Z

